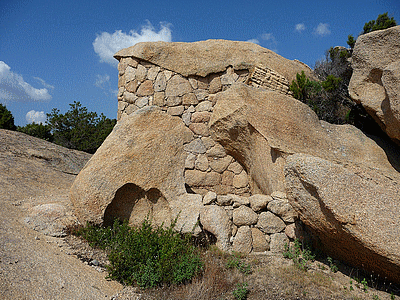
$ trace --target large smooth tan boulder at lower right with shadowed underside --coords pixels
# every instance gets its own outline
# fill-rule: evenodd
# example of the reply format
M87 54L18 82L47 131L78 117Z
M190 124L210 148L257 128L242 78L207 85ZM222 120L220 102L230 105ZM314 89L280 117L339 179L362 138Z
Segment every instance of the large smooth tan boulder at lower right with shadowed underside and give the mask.
M285 179L290 203L328 253L400 282L398 174L295 154Z

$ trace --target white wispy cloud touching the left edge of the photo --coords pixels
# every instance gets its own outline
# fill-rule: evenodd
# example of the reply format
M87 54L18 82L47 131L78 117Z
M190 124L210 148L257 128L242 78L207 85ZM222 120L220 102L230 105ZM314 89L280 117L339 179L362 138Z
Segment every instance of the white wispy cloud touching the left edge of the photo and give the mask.
M46 88L34 88L21 75L12 72L4 61L0 61L0 99L45 102L51 99L51 95Z

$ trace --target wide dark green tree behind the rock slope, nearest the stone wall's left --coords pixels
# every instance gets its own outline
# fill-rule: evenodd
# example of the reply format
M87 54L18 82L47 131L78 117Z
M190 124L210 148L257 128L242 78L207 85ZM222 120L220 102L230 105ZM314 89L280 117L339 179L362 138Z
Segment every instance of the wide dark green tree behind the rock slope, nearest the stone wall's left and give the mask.
M65 114L54 108L47 114L47 124L53 134L54 143L69 149L94 153L110 134L116 120L89 112L80 102L74 101Z

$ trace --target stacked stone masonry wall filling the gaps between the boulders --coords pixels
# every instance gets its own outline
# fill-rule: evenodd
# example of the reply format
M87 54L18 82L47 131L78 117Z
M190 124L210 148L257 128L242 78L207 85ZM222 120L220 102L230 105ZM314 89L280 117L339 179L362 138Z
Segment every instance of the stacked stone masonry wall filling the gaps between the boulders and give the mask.
M286 78L265 66L252 70L228 67L206 77L184 77L133 57L121 58L118 71L118 120L145 106L156 105L180 117L194 133L194 139L184 146L186 187L189 193L202 195L206 206L224 208L228 218L224 237L213 226L207 229L217 236L220 247L244 253L282 251L288 237L294 237L294 217L281 215L282 207L290 211L285 213L293 214L286 197L251 195L246 170L210 137L208 122L216 104L215 94L233 83L288 94ZM264 199L260 207L252 203L256 198ZM276 201L280 201L279 209ZM201 220L204 227L206 220Z

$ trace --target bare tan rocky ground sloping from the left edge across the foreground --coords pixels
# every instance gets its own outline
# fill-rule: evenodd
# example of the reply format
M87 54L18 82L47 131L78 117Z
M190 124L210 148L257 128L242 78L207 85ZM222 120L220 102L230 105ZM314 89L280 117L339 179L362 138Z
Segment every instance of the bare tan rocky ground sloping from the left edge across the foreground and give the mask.
M246 275L226 268L226 255L205 251L204 276L179 287L142 291L107 280L106 254L64 231L76 224L68 190L88 159L84 153L0 130L4 299L234 299L238 283L248 284L248 299L393 299L389 284L372 278L365 292L352 279L360 276L358 271L338 262L336 273L326 261L302 271L280 254L244 258L252 270ZM400 291L390 288L399 298Z

